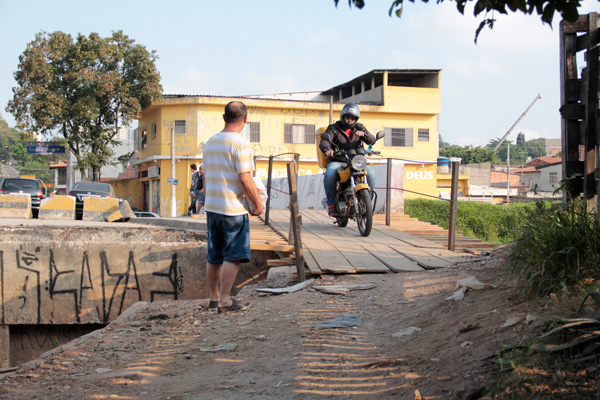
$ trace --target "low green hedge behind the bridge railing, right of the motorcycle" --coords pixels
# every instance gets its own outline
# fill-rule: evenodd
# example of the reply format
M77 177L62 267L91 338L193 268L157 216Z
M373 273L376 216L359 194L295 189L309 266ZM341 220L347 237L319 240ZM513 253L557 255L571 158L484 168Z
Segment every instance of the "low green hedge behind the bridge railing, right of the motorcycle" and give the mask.
M535 211L534 203L513 203L508 206L459 201L456 231L485 242L506 243L515 240L525 222ZM420 221L449 227L450 202L412 199L404 201L404 212Z

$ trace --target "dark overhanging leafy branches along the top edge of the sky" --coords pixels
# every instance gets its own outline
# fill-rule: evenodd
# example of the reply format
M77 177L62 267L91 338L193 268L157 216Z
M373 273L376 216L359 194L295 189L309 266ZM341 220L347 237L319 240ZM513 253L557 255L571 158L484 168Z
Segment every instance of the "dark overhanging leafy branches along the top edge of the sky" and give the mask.
M333 0L337 7L339 0ZM408 0L414 3L415 0ZM429 0L422 0L424 3L428 3ZM436 3L442 3L444 0L436 0ZM521 12L526 15L531 15L534 12L540 16L542 22L552 25L554 14L559 12L563 19L569 22L574 22L579 17L577 8L581 5L580 0L455 0L456 8L458 12L464 15L465 7L467 3L474 2L473 15L478 17L481 13L484 13L485 17L479 24L477 31L475 32L475 43L477 43L477 37L483 28L486 26L492 29L494 27L494 13L508 14L511 12ZM392 5L388 14L392 16L395 14L398 18L402 16L404 10L404 0L393 0ZM353 5L361 9L365 5L364 0L348 0L348 5ZM508 10L507 10L508 8ZM491 17L487 17L491 14Z

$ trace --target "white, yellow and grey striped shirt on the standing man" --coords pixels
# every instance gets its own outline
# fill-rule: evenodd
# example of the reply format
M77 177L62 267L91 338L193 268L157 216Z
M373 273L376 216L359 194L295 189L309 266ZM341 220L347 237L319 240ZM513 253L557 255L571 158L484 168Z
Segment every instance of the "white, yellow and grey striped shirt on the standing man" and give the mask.
M254 171L250 142L237 132L219 132L204 144L204 209L223 215L248 213L239 173Z

